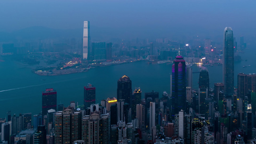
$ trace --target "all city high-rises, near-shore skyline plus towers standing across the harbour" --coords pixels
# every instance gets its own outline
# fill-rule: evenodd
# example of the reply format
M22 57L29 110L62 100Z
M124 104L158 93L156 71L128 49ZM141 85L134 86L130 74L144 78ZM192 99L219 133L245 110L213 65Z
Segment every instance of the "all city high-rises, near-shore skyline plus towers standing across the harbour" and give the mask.
M83 58L106 60L102 49L111 44L92 43L89 22L84 23ZM211 58L210 40L205 54ZM42 92L42 111L11 115L0 120L2 144L256 144L256 74L239 73L234 87L234 39L224 30L223 82L209 86L203 67L198 89L193 89L192 67L179 54L171 72L171 93L132 89L123 75L116 97L96 104L96 87L84 86L84 105L57 104L53 88ZM153 44L150 53L154 55ZM104 50L104 51L105 51ZM188 50L188 49L187 49ZM108 52L108 51L105 51ZM184 51L183 51L184 52ZM110 52L111 53L111 52Z

